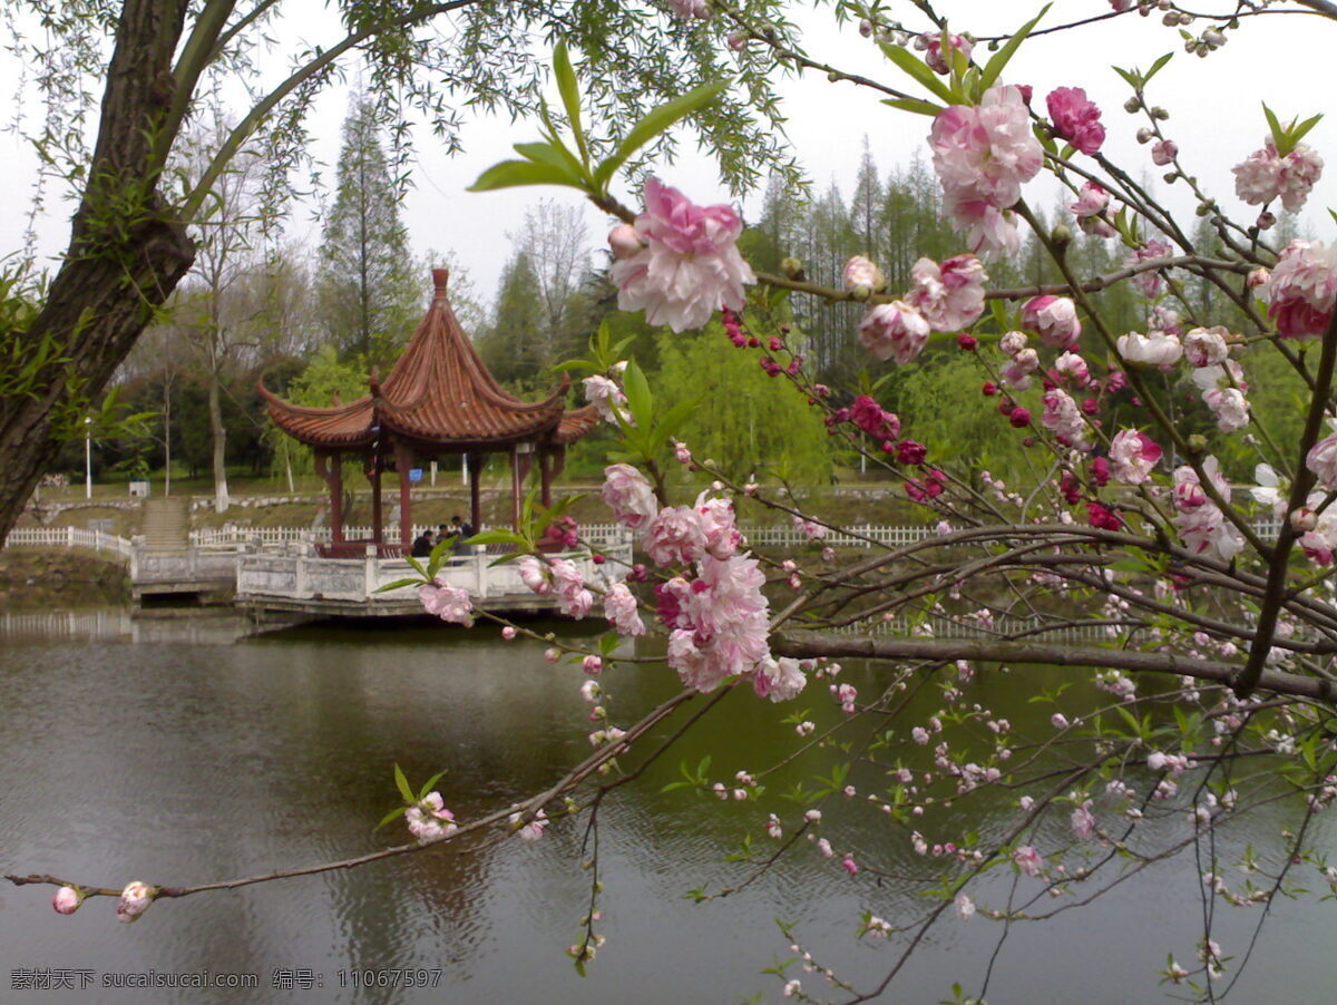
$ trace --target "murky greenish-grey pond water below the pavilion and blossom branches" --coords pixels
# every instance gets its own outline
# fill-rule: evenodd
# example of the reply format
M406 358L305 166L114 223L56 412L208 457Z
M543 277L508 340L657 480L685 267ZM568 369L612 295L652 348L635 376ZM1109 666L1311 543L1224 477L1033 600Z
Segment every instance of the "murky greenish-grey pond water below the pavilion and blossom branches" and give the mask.
M544 631L574 631L545 625ZM874 667L845 678L872 688ZM128 879L190 885L340 859L400 843L402 822L373 834L398 798L392 764L439 788L457 817L505 805L559 778L590 744L575 667L550 666L541 645L492 629L440 624L303 628L239 637L218 619L131 621L123 612L0 613L0 871L52 873L107 886ZM618 667L604 679L614 718L677 691L666 671ZM1016 680L980 675L976 700L1020 731L1036 712ZM822 686L800 699L812 718L838 710ZM686 710L690 712L691 710ZM74 917L49 907L51 887L0 885L4 1002L531 1002L642 1005L781 1001L762 970L790 956L775 925L857 985L876 984L894 945L856 942L858 913L890 921L921 906L915 889L850 879L837 861L801 847L742 893L706 903L694 887L737 882L722 859L770 811L797 811L773 784L759 802L662 791L682 760L714 758L711 775L774 760L793 739L792 710L730 695L693 734L623 786L600 811L600 907L607 945L579 977L564 949L588 909L582 822L556 822L539 842L503 841L469 855L447 849L368 867L239 891L162 901L119 925L110 899ZM678 720L660 732L667 735ZM790 779L821 770L809 759ZM853 813L826 831L840 849L912 867L904 829ZM999 834L1015 806L975 802L971 817L939 817L952 837ZM1229 835L1266 847L1300 807L1277 803ZM1322 839L1332 845L1328 819ZM925 827L928 830L928 827ZM765 841L763 838L761 838ZM1225 841L1225 839L1223 839ZM1337 849L1334 849L1337 850ZM1007 870L1009 871L1009 870ZM988 1000L1123 1005L1159 1001L1166 956L1194 957L1201 902L1191 855L1139 873L1096 905L1051 922L1012 926ZM1312 871L1304 877L1314 885ZM1001 893L1011 877L999 874ZM981 899L988 899L989 890ZM1278 902L1255 960L1235 988L1242 1002L1330 1005L1333 902ZM1257 909L1218 910L1215 938L1242 952ZM984 973L1001 929L976 915L945 918L910 961L889 1001L937 1002ZM28 990L24 973L91 973L86 990ZM435 988L360 986L386 969L427 972ZM112 974L254 974L254 990L108 986ZM439 974L439 978L433 977ZM812 974L796 970L821 994ZM275 986L293 984L293 986ZM302 986L310 985L310 986ZM828 997L828 996L822 996ZM837 996L842 997L842 996Z

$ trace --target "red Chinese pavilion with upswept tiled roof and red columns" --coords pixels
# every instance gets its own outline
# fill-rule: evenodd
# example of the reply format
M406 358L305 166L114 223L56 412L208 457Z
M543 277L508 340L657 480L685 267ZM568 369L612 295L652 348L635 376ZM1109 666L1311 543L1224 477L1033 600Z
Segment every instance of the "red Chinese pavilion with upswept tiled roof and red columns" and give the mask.
M362 553L366 541L344 539L342 478L345 456L364 462L372 486L372 543L377 553L406 552L413 521L409 515L409 470L425 458L464 454L469 470L469 523L481 528L479 482L489 453L511 461L512 524L520 521L520 493L535 456L544 505L551 505L552 480L566 464L572 444L598 424L592 406L564 408L570 376L543 401L527 402L503 390L488 373L473 343L460 329L445 295L448 273L433 269L436 293L427 317L396 361L389 377L368 380L369 393L329 408L293 405L261 384L269 417L294 440L316 450L316 470L329 485L330 555ZM400 480L400 540L386 544L381 525L381 474L393 469Z

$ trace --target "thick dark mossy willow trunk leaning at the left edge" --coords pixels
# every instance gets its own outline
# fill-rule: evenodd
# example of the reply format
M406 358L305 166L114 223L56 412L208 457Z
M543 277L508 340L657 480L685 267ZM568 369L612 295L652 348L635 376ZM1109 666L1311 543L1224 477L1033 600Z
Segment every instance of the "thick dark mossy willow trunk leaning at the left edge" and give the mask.
M0 397L0 536L60 448L71 408L99 394L195 257L156 194L152 144L174 98L172 53L189 0L124 0L107 68L98 143L70 250L20 357L55 349Z

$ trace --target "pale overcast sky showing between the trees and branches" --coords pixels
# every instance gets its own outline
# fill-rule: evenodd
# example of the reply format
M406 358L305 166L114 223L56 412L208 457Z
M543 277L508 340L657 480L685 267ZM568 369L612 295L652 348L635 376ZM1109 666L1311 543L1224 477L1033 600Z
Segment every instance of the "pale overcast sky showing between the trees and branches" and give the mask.
M1207 5L1203 0L1202 5ZM1221 8L1234 4L1213 4ZM969 0L968 3L943 0L939 9L953 17L957 31L971 31L987 36L1007 31L1036 11L1036 4L1017 0ZM1058 0L1047 23L1076 19L1108 9L1106 0ZM312 0L312 17L303 19L302 35L309 41L337 36L337 21ZM322 19L328 31L321 31ZM913 91L915 84L894 71L876 49L858 36L854 25L834 25L829 11L808 13L805 47L814 59L832 63L842 69L878 78L897 87ZM1206 27L1199 21L1190 31ZM701 31L710 31L702 25ZM1337 41L1337 25L1310 16L1255 17L1239 32L1230 32L1225 48L1207 59L1198 59L1182 51L1178 29L1161 24L1161 15L1143 19L1136 15L1116 17L1096 25L1038 37L1023 45L1005 76L1008 83L1029 83L1035 87L1038 107L1043 108L1043 95L1054 87L1080 86L1104 110L1108 128L1106 151L1124 164L1134 176L1159 176L1163 168L1154 168L1147 147L1139 147L1134 134L1143 124L1140 116L1122 110L1128 96L1127 86L1110 69L1111 63L1123 67L1146 67L1158 56L1177 51L1170 65L1152 82L1151 98L1165 106L1171 118L1166 123L1167 135L1175 139L1189 170L1197 174L1205 187L1223 207L1238 212L1242 219L1253 215L1235 196L1230 166L1242 160L1261 146L1266 134L1261 102L1266 102L1280 116L1308 118L1332 108L1333 94L1328 60ZM987 55L987 53L985 53ZM7 52L0 59L0 84L17 90L19 67ZM685 88L686 90L686 88ZM866 134L877 163L888 170L906 163L916 150L924 150L929 120L908 115L878 103L878 96L849 84L830 84L822 75L809 74L781 83L785 114L789 118L787 135L793 147L821 191L836 180L849 194L862 152ZM27 95L37 114L33 95ZM338 155L340 124L348 108L346 92L330 92L318 108L313 135L318 144L316 156L333 164ZM1324 120L1310 134L1309 142L1320 152L1329 148L1334 123ZM536 131L527 123L507 119L479 118L469 120L464 131L465 152L445 158L432 147L424 132L418 138L420 163L414 171L414 188L405 202L405 221L413 246L418 253L428 249L452 250L465 265L477 293L491 303L496 282L511 254L507 233L521 229L524 210L541 198L552 198L564 204L580 203L571 190L508 190L505 192L472 194L465 188L479 174L500 159L511 155L511 143L536 139ZM7 198L0 203L0 242L9 249L20 246L20 235L28 211L33 158L13 136L3 140L0 148L11 166ZM658 174L670 184L682 188L698 203L727 200L718 183L714 163L705 152L698 152L689 139L681 144L683 156L675 164L660 166ZM1337 156L1337 155L1333 155ZM1329 162L1333 160L1329 156ZM1333 206L1333 172L1328 175L1310 198L1305 223L1318 238L1326 238L1332 222L1324 211ZM333 171L328 172L330 176ZM1191 204L1175 199L1175 190L1158 184L1158 191L1173 204L1191 211ZM623 190L624 200L635 204L634 194ZM1052 203L1052 190L1034 183L1027 190L1034 203ZM755 217L759 192L743 203L745 214ZM55 254L64 247L68 204L51 200L49 211L41 221L39 233L41 251ZM608 221L598 210L587 210L591 243L602 245ZM310 211L299 211L293 233L318 241L318 227L310 222ZM427 278L424 277L424 286Z

